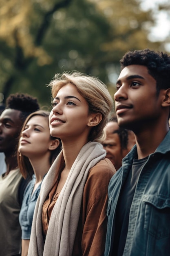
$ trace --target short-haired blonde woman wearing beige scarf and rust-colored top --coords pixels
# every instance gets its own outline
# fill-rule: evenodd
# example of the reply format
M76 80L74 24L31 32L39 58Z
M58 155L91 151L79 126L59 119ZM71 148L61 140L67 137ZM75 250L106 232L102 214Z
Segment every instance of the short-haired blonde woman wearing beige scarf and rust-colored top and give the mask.
M56 75L50 86L50 131L62 152L42 183L28 255L102 256L115 168L100 141L113 100L101 81L77 72Z

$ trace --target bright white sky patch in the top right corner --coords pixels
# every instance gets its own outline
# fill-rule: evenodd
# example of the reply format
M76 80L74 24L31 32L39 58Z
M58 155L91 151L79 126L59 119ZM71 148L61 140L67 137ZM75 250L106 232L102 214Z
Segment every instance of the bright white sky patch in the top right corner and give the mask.
M150 33L150 40L163 41L166 36L170 35L170 19L165 11L159 11L157 4L169 2L169 0L142 0L141 7L145 10L154 9L157 17L157 25Z

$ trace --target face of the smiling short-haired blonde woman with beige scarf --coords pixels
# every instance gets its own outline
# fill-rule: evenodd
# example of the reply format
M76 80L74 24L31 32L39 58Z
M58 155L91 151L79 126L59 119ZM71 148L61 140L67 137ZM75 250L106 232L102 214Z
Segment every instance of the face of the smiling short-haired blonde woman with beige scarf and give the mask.
M50 132L62 139L87 138L91 114L87 101L73 84L64 85L53 101L49 117Z

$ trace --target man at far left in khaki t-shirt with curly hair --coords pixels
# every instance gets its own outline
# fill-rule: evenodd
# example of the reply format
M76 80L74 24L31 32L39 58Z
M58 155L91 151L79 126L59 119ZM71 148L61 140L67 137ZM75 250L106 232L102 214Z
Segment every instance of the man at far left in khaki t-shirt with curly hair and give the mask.
M21 228L18 220L24 189L17 162L19 134L26 117L39 109L29 94L11 94L0 115L0 152L4 152L7 171L0 175L0 256L19 256Z

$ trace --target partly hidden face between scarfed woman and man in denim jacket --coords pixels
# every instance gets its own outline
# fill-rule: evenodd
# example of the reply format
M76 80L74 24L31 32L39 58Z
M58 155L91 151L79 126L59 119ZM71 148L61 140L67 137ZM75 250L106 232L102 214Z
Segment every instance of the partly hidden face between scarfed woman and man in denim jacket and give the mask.
M104 128L106 132L106 139L102 142L104 149L106 150L106 158L115 166L118 170L121 167L121 160L125 156L121 149L120 139L118 133L113 133L115 130L119 130L117 122L109 122Z

